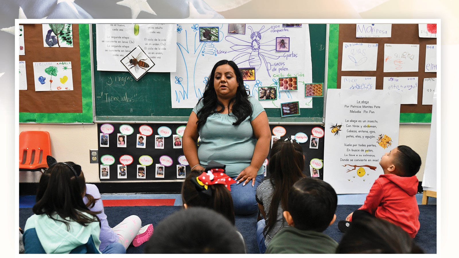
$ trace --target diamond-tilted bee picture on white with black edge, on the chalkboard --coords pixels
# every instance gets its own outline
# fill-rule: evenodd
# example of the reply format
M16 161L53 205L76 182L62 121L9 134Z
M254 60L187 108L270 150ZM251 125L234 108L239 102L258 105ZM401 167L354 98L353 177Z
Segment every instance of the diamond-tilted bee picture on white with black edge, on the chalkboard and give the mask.
M146 55L139 45L129 52L128 55L124 56L123 59L121 59L121 62L136 81L144 76L144 74L155 65L155 63Z

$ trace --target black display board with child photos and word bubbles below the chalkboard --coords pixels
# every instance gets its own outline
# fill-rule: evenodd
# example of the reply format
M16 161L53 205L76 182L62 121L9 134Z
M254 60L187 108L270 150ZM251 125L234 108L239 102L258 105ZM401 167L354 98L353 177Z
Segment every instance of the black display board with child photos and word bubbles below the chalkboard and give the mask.
M178 159L183 154L183 149L181 148L174 148L173 147L173 136L165 137L164 138L164 149L157 149L155 148L155 135L158 135L157 131L160 127L166 126L172 130L172 134L174 135L176 129L180 126L186 125L185 123L111 123L114 127L114 131L109 135L108 139L108 147L101 147L101 125L102 123L97 124L97 142L98 142L98 150L99 150L99 178L101 182L110 182L110 181L164 181L164 180L175 180L177 178L177 165L179 165ZM134 133L131 135L126 136L126 147L118 147L117 145L117 134L120 134L120 126L123 124L127 124L134 129ZM145 148L138 148L137 145L137 134L139 133L139 128L142 125L148 125L153 130L152 135L144 136L145 140ZM303 153L305 156L305 166L303 169L303 173L306 176L311 175L311 168L309 164L313 159L319 159L323 161L324 159L324 137L318 138L317 142L318 145L314 148L311 148L311 135L312 129L315 127L319 127L322 130L325 128L319 125L270 125L271 131L275 126L282 126L285 128L285 135L280 137L280 140L284 140L285 138L291 138L291 135L296 135L299 132L302 132L308 135L308 139L304 143L300 143L303 148ZM271 145L270 145L271 146ZM271 151L271 150L270 150ZM109 167L109 178L101 178L101 166L106 166L101 163L101 157L104 155L111 155L114 157L115 163L108 165ZM127 170L127 178L125 179L118 179L118 165L120 163L120 157L123 155L130 155L133 157L133 163L126 166ZM146 166L146 177L144 179L137 178L137 165L140 165L139 158L143 155L148 155L152 157L153 163L149 166ZM164 178L157 178L156 177L156 166L155 164L160 163L160 157L163 155L167 155L172 158L174 163L167 167L164 167ZM268 154L269 159L269 154ZM269 163L268 163L269 167ZM323 171L324 168L319 168L319 178L323 179ZM185 172L188 174L190 172L190 166L185 166ZM267 177L269 177L269 168L267 168Z

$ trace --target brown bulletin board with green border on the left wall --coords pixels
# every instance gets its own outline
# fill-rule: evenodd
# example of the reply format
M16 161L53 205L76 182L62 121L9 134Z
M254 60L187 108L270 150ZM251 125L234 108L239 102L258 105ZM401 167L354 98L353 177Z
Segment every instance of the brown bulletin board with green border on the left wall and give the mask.
M42 24L23 25L27 90L19 90L19 122L92 123L88 24L72 24L73 47L45 47ZM34 62L71 62L73 90L35 91Z

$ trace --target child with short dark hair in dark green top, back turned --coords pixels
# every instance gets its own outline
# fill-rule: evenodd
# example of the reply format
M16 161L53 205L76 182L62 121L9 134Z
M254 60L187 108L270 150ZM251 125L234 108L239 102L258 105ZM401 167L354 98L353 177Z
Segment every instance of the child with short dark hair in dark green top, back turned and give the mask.
M280 230L265 253L335 253L338 243L322 233L336 219L338 197L325 181L304 178L293 184Z

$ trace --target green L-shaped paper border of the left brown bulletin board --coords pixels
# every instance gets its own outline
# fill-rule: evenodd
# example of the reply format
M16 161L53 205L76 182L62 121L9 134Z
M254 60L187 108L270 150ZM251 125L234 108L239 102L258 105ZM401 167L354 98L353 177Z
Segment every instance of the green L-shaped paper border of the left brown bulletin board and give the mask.
M93 123L89 24L78 24L82 113L19 113L19 123Z

